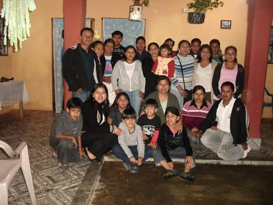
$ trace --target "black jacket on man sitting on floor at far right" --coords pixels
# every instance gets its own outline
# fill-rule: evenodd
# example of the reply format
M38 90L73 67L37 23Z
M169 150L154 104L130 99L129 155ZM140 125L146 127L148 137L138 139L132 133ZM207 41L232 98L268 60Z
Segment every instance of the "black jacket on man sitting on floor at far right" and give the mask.
M205 132L211 125L217 126L216 112L220 102L221 100L218 100L212 105L205 120L199 126L199 130ZM248 129L249 117L246 106L241 100L236 99L230 116L230 133L233 137L233 144L246 142L248 139Z

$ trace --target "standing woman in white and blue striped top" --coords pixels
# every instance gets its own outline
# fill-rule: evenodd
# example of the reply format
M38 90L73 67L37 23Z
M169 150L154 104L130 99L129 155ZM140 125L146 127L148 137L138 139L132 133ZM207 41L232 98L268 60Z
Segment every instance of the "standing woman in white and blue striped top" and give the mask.
M174 57L174 77L172 79L171 93L179 102L181 108L187 101L192 100L194 57L189 55L191 44L187 40L182 40L178 44L179 54Z

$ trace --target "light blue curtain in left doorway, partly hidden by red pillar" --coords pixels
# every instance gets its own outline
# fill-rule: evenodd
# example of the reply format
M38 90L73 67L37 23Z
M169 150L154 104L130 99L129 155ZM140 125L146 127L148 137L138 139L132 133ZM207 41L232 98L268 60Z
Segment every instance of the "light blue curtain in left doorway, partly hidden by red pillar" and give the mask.
M90 18L85 20L85 26L90 28ZM64 87L62 74L62 59L64 55L64 40L62 31L64 29L63 18L53 18L53 61L54 61L54 89L55 89L55 112L63 110ZM72 45L71 45L72 46Z

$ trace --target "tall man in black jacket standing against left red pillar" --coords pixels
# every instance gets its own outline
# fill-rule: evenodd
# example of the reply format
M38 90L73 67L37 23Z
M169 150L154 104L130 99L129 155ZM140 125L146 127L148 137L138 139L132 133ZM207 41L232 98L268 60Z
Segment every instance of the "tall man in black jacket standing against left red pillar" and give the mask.
M82 102L89 97L94 85L101 81L101 70L94 65L94 53L90 50L94 32L91 28L80 31L80 44L71 46L63 59L63 75L72 97Z

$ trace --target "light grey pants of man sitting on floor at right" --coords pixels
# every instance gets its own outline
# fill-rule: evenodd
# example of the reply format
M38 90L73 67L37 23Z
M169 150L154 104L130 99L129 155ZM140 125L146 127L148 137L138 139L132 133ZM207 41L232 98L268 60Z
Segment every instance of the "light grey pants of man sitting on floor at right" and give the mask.
M219 129L217 131L207 129L201 142L223 160L239 160L244 156L244 148L241 144L233 144L231 133Z

